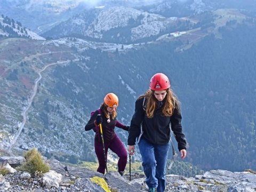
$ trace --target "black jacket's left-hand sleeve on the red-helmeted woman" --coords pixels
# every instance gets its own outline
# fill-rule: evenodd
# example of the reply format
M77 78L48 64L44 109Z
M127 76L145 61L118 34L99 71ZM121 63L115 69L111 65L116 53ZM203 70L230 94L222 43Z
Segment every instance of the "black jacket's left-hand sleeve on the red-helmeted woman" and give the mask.
M142 103L144 98L140 98L135 102L135 110L132 116L128 141L127 144L132 146L135 145L136 138L140 135L140 125L143 121L145 111L143 110Z

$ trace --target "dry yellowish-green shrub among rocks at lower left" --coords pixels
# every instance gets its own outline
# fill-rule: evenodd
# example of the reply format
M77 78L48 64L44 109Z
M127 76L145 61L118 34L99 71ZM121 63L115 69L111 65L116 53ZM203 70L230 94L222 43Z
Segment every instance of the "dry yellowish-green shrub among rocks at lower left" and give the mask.
M36 173L46 173L50 171L49 165L47 165L36 148L33 148L24 154L26 162L18 167L19 171L27 171L33 175Z

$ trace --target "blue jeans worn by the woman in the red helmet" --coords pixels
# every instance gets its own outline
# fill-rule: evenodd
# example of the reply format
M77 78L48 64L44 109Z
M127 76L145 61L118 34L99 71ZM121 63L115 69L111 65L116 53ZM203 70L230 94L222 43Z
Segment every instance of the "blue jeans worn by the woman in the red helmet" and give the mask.
M166 145L153 145L141 138L138 145L147 186L157 188L157 192L163 192L165 190L165 166L170 141Z

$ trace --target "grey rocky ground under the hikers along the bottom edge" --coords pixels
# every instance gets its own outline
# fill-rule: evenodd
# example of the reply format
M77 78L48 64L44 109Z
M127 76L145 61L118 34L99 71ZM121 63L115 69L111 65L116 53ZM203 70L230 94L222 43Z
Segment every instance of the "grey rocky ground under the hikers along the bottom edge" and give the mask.
M6 160L7 159L7 160ZM17 160L19 159L19 160ZM106 175L94 172L84 167L68 166L55 159L45 159L51 167L51 171L45 174L31 176L26 172L18 172L13 169L24 159L19 157L0 157L2 166L11 165L5 176L0 175L0 192L2 191L147 191L143 174L129 174L123 177L119 173L111 171ZM14 161L15 160L15 161ZM19 162L18 162L19 161ZM3 163L5 162L5 163ZM256 191L256 174L253 171L230 172L226 170L212 170L194 178L186 178L181 175L166 175L166 192L187 191L228 191L228 192L252 192Z

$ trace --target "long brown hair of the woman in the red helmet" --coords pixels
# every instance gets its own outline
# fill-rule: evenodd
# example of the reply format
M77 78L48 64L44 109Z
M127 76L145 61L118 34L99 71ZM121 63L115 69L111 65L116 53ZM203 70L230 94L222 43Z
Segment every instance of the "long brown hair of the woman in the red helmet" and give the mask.
M162 108L162 113L164 116L172 116L173 111L175 108L178 109L178 111L180 111L180 102L178 100L178 98L175 96L175 94L173 93L173 91L169 88L166 89L166 96L165 96L165 103L164 106ZM146 97L146 115L148 118L153 118L154 116L154 111L157 108L157 99L154 95L155 91L153 90L147 90L145 95L141 95L139 98L142 97ZM138 99L139 99L138 98Z

